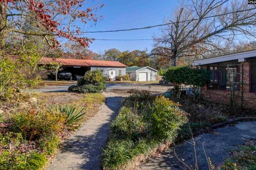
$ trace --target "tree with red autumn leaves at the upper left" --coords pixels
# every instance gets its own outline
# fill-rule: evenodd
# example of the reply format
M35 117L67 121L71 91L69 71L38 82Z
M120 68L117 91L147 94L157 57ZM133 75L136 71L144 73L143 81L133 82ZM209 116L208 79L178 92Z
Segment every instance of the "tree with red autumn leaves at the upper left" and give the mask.
M42 36L52 48L59 44L57 37L89 46L93 39L79 34L79 26L97 22L101 16L94 12L103 5L85 5L84 0L0 0L0 49L15 33ZM28 19L35 23L35 28L26 27Z

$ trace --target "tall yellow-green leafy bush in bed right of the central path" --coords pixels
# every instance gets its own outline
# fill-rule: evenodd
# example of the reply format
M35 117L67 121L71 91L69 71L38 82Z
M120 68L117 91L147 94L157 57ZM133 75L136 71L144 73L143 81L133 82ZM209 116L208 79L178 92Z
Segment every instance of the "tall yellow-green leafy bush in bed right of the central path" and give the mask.
M177 103L157 96L151 106L153 133L161 140L174 141L178 131L187 122L186 112Z

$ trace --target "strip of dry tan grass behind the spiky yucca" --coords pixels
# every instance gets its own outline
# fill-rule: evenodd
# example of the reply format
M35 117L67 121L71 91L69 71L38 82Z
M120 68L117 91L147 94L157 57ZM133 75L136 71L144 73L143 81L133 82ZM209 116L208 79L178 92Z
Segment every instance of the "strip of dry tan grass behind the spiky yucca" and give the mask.
M13 113L20 112L26 108L31 108L35 104L42 109L50 107L52 104L67 104L69 106L74 106L77 109L85 108L86 114L83 118L84 121L93 117L99 111L100 105L104 101L105 96L101 93L23 93L17 95L17 98L12 99L11 101L1 101L0 111L4 112L4 117L9 117Z

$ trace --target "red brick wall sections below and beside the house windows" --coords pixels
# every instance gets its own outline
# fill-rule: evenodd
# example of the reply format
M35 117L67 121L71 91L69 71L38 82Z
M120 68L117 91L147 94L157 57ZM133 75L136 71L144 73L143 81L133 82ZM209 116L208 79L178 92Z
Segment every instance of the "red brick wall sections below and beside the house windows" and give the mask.
M206 68L206 67L203 67ZM240 70L242 70L242 66L240 66ZM240 77L241 78L241 77ZM250 92L250 64L249 62L244 62L244 107L255 108L256 107L256 93ZM230 92L228 90L210 90L207 89L207 86L201 88L201 91L205 96L214 102L226 102L230 101ZM242 88L240 88L239 92L236 92L236 100L238 103L241 103L241 92Z

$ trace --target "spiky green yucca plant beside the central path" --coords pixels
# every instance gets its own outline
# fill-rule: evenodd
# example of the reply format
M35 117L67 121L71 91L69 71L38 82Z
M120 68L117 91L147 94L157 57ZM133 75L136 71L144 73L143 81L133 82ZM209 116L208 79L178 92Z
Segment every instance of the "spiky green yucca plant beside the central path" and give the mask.
M51 106L51 110L56 112L61 112L62 114L66 115L65 124L67 126L70 126L74 123L77 123L79 120L82 119L82 116L85 115L85 112L82 112L84 108L77 111L77 109L73 106L67 106L66 104L64 106Z

